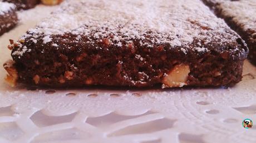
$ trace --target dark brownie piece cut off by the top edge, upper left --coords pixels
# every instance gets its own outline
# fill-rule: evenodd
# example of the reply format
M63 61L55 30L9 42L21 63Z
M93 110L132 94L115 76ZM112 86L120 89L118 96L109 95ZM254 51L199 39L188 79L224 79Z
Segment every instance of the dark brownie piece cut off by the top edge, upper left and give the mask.
M35 7L40 0L3 0L4 2L14 3L17 9L29 9Z

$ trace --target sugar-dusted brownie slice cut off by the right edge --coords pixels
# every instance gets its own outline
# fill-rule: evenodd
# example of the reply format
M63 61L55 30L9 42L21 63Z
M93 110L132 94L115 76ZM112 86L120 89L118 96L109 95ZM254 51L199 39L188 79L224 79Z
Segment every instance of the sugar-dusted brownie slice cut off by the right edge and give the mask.
M204 0L209 1L209 0ZM249 59L256 64L256 1L215 1L214 11L217 16L225 19L247 43Z

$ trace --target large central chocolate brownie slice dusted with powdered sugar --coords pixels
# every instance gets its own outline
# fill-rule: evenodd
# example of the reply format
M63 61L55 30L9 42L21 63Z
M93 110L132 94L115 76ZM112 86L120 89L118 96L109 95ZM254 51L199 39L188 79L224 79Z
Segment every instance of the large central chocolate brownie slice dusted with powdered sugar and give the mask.
M248 48L200 0L65 1L4 64L15 85L231 86Z

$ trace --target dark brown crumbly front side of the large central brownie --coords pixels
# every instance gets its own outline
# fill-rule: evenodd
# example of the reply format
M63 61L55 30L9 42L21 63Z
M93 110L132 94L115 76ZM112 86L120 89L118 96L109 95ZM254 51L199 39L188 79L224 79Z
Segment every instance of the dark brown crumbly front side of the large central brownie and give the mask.
M99 43L104 48L99 50L85 42L71 43L75 38L72 34L63 35L62 38L58 43L63 45L58 50L52 50L53 43L42 47L41 40L38 44L23 43L33 49L21 58L13 55L19 83L50 87L146 87L161 84L165 73L176 65L186 64L190 68L187 85L232 86L242 79L243 61L248 52L239 38L234 43L239 48L236 52L225 50L221 53L217 48L220 46L218 43L210 43L212 50L200 55L192 50L185 55L179 48L170 50L169 45L159 45L150 50L137 42L122 48ZM86 37L83 40L86 41ZM195 42L193 45L196 45ZM12 53L16 51L17 47L14 47Z

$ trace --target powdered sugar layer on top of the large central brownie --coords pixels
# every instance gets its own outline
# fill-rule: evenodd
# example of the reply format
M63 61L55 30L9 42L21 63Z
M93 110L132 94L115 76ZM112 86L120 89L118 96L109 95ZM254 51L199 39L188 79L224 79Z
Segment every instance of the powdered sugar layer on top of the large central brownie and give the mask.
M116 47L123 47L136 39L149 48L168 44L183 47L186 53L185 48L193 48L188 45L194 39L199 43L235 40L237 37L227 29L200 0L77 0L65 1L22 39L43 35L43 44L47 44L52 35L72 33L77 40L86 35L91 44L107 38Z

